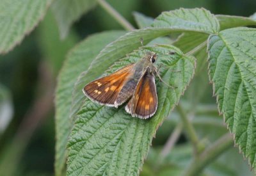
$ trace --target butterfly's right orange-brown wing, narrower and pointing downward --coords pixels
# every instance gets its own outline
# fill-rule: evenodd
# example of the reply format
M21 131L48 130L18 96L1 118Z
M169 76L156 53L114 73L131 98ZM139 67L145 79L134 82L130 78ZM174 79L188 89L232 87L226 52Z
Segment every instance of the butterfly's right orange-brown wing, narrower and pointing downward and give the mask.
M125 110L132 116L150 118L156 113L157 93L155 77L147 70L136 86L132 99L129 100Z

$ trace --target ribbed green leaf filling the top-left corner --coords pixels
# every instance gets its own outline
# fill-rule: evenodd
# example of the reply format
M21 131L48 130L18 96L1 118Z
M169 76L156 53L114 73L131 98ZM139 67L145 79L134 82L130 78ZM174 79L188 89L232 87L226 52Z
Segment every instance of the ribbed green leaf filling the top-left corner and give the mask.
M44 17L51 0L2 0L0 3L0 54L19 44Z

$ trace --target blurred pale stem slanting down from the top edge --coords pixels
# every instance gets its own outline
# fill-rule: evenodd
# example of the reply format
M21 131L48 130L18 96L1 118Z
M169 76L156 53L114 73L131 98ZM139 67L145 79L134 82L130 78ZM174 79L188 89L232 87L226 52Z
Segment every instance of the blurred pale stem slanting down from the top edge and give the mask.
M120 15L112 6L110 6L105 0L98 0L98 3L106 12L109 13L124 29L127 31L133 30L133 26Z

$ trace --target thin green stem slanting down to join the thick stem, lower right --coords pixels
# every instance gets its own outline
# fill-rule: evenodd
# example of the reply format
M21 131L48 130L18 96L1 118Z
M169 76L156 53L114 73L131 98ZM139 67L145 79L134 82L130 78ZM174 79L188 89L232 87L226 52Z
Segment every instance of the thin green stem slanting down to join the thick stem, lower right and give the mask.
M191 124L191 122L189 121L189 118L186 115L184 109L180 106L180 104L178 104L178 106L177 106L177 111L180 114L180 118L183 122L184 129L186 130L188 138L191 141L191 143L193 144L195 154L197 155L199 140L198 140L198 137L196 136L196 131L195 131L193 125Z

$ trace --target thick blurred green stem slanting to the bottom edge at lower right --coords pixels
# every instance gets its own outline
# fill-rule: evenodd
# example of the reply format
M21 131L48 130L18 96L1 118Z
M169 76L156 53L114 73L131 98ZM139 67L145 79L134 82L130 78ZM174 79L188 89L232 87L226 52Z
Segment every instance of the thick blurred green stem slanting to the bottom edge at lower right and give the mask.
M186 176L199 175L205 166L214 161L218 156L220 156L225 150L234 145L234 140L230 133L223 135L219 140L207 148L199 157L196 157L191 162L188 170L184 172Z

